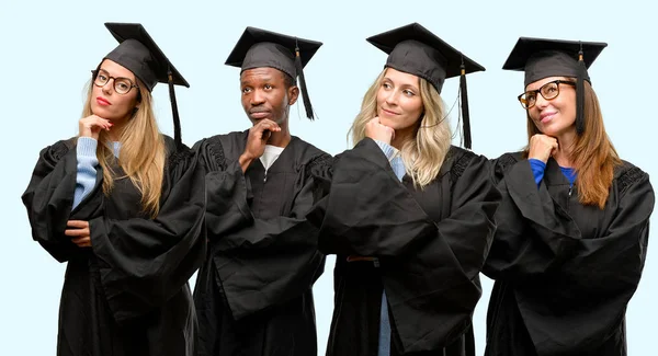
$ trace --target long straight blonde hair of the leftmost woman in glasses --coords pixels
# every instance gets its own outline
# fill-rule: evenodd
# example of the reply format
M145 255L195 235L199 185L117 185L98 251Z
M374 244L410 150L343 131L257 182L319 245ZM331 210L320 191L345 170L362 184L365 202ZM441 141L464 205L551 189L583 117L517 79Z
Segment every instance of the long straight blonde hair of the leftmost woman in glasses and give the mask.
M162 192L162 180L164 175L166 147L162 135L158 129L158 123L152 111L152 96L146 85L137 80L139 85L140 103L133 117L126 123L121 133L121 154L118 165L131 179L133 185L141 194L143 211L155 218L160 210L160 194ZM82 110L82 117L92 115L93 83L89 83L89 94ZM110 137L101 130L99 135L97 157L103 169L103 193L109 196L114 187L116 176L112 170L112 162L116 159L110 146Z

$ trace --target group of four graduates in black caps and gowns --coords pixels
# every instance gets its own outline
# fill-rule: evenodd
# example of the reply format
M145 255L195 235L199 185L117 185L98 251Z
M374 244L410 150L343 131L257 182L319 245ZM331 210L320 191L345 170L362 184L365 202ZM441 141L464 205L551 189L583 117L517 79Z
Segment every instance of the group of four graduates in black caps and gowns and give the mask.
M466 90L484 68L417 23L374 35L386 65L331 157L288 128L299 99L314 117L303 70L321 43L247 27L226 64L251 127L189 148L185 79L140 24L105 25L120 44L79 135L41 151L22 195L33 239L68 263L57 355L317 355L329 254L327 355L475 355L480 272L496 280L485 355L626 355L654 191L603 126L587 69L605 44L519 38L503 69L525 73L527 146L489 160ZM457 77L465 148L440 96Z

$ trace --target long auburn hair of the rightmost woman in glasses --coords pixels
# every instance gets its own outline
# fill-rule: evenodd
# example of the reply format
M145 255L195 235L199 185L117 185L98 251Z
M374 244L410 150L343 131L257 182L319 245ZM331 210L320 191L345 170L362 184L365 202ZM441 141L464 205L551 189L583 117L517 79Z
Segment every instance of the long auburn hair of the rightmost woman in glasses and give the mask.
M576 169L578 200L603 209L614 179L614 168L622 161L605 133L599 99L588 81L585 81L583 118L585 131L576 136L569 157ZM536 134L542 133L527 115L527 141ZM529 147L525 156L527 152Z

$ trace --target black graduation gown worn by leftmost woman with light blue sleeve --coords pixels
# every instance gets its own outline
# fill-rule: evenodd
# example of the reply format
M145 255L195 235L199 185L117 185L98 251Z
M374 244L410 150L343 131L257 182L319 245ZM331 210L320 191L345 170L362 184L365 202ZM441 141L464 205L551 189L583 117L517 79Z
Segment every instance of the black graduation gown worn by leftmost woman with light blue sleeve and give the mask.
M166 137L168 151L173 140ZM68 262L59 307L57 355L192 355L196 317L188 279L203 262L204 176L191 151L168 154L160 213L150 219L129 179L94 190L72 209L76 140L42 150L27 190L32 237ZM121 176L121 168L115 168ZM64 234L89 221L92 248Z

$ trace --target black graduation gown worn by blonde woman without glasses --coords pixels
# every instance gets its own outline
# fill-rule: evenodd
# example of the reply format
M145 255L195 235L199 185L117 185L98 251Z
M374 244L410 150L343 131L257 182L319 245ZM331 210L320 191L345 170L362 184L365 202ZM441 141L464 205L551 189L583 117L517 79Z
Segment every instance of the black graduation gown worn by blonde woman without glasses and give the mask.
M500 197L488 172L484 157L452 147L416 190L370 138L314 172L330 192L308 219L321 226L320 251L337 254L327 355L377 355L383 290L392 355L475 355L472 314Z

